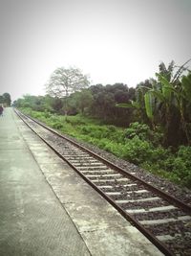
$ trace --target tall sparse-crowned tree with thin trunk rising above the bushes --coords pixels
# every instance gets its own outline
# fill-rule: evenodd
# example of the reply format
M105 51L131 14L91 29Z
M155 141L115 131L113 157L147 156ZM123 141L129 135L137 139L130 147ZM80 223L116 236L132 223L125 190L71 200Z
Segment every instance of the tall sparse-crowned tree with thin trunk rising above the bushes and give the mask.
M60 67L53 71L46 84L46 91L53 97L65 98L64 112L67 116L69 95L89 86L88 77L83 75L78 68Z

